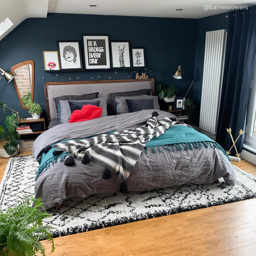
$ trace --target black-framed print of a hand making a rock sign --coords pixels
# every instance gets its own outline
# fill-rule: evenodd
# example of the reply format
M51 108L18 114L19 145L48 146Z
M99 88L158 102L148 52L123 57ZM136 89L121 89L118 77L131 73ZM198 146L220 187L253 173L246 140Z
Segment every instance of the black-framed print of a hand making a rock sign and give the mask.
M128 41L111 42L111 59L113 68L131 67L131 49Z

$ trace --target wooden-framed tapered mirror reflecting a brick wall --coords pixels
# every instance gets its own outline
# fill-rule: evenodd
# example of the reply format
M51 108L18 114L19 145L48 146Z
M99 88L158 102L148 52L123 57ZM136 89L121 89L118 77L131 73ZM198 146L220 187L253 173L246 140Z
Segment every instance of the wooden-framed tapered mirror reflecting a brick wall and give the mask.
M20 62L11 68L11 72L17 74L13 82L22 109L27 109L29 103L34 100L34 68L35 65L32 60Z

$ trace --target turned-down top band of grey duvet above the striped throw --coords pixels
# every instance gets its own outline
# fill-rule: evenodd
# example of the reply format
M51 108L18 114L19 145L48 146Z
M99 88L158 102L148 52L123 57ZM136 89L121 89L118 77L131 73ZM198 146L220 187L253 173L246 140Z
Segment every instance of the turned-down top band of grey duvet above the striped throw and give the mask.
M135 125L146 123L152 112L159 113L159 119L164 117L175 117L173 114L161 110L141 110L134 113L127 113L116 116L105 116L85 122L74 122L71 124L61 124L43 132L33 144L33 156L38 161L41 150L58 141L88 137L102 134L109 131L124 130Z

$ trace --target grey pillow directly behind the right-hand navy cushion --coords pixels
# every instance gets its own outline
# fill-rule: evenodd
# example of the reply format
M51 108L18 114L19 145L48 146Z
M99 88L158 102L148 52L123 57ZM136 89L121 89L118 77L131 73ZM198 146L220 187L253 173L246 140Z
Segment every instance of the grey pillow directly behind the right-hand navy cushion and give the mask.
M158 96L148 96L148 95L140 95L140 96L131 96L131 97L115 97L115 106L116 106L116 114L124 114L128 113L128 106L126 99L154 99L154 109L159 109Z

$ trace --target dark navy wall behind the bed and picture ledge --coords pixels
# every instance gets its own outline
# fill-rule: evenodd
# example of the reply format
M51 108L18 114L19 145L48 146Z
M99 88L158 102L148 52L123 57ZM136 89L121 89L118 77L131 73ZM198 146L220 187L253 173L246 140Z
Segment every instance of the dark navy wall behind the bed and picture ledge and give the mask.
M124 16L96 16L83 14L54 14L47 18L29 18L23 21L9 35L0 41L0 63L5 70L16 63L35 61L35 102L45 103L42 79L45 76L43 51L57 50L57 40L81 40L82 35L108 35L111 40L130 40L133 47L145 47L147 66L152 72L149 77L163 82L166 87L176 84L179 95L184 96L189 80L175 80L173 73L181 65L186 73L193 77L195 70L196 19L148 18ZM46 81L69 81L68 76L97 75L95 72L62 73L56 76L46 73ZM108 80L109 74L95 80ZM110 73L115 76L115 72ZM120 71L115 79L127 79L127 72ZM60 74L61 75L61 74ZM130 78L135 73L130 71ZM72 80L77 81L77 78ZM80 79L81 80L81 79ZM90 80L86 78L86 80ZM193 91L190 92L193 96ZM0 81L0 101L7 103L21 116L29 116L19 104L13 82ZM3 114L0 112L0 123Z

